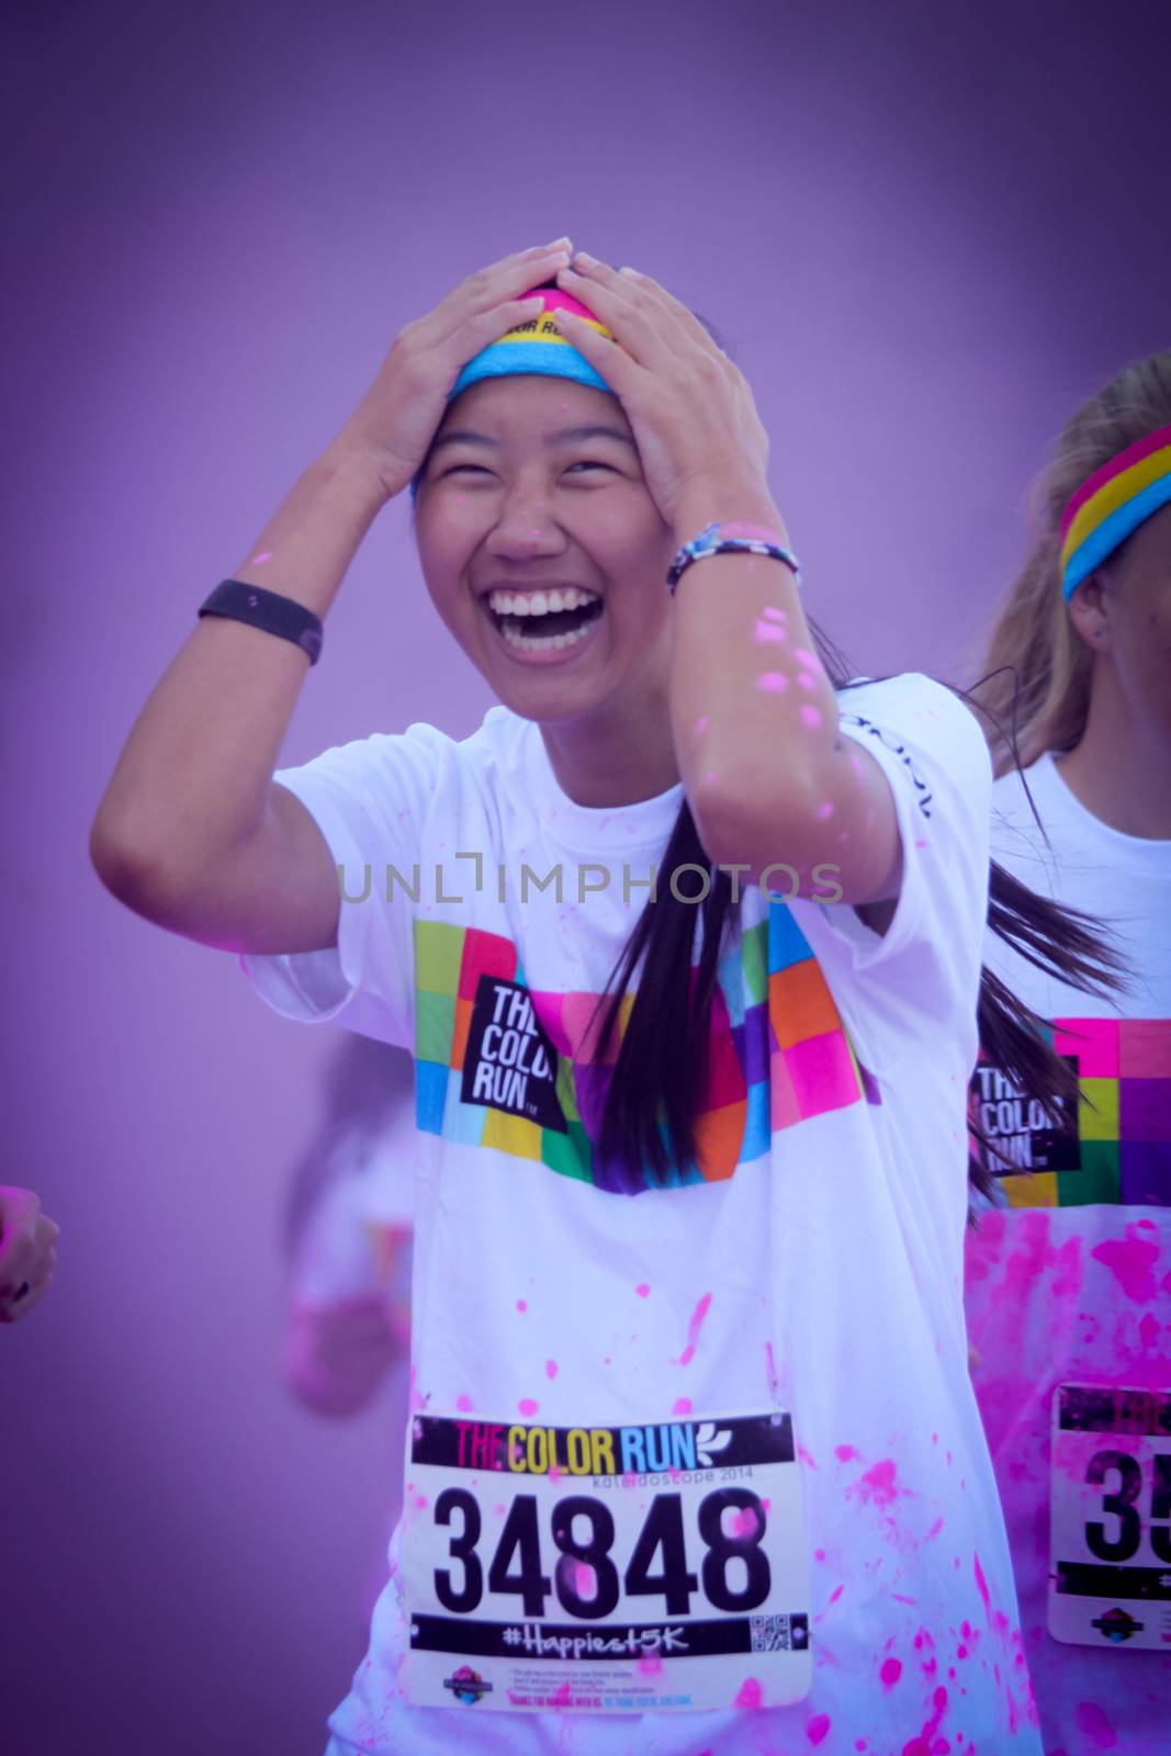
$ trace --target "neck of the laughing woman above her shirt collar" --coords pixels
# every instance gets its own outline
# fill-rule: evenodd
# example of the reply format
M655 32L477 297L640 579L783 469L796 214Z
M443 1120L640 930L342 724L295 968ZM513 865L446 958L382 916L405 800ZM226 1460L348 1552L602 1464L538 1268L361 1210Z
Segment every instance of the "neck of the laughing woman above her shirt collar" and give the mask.
M632 713L583 715L541 727L557 783L574 804L641 804L679 780L665 695Z

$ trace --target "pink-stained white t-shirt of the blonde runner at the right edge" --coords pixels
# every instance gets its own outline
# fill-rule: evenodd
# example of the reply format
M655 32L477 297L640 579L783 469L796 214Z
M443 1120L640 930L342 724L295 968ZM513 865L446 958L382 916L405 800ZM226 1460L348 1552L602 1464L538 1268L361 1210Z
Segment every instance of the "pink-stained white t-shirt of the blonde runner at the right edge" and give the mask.
M1046 1751L1167 1756L1171 1573L1157 1584L1160 1558L1150 1547L1152 1529L1166 1531L1152 1517L1160 1510L1152 1508L1157 1447L1150 1435L1131 1443L1134 1433L1099 1429L1090 1443L1071 1431L1052 1470L1052 1403L1057 1385L1104 1385L1162 1391L1171 1405L1171 841L1124 836L1092 817L1052 755L1032 764L1027 783L1048 846L1011 771L994 788L994 859L1039 894L1115 929L1134 976L1117 1001L1097 999L988 936L988 964L1052 1027L1055 1048L1076 1059L1092 1108L1081 1106L1076 1129L1062 1134L1029 1117L995 1069L976 1069L983 1120L1022 1169L1001 1177L1002 1205L981 1215L967 1243L973 1378L1008 1517ZM1087 1484L1087 1450L1125 1452L1134 1457L1122 1465L1127 1475L1145 1477L1132 1544L1117 1498L1104 1507L1124 1479L1111 1465L1099 1484ZM1055 1614L1066 1633L1066 1617L1078 1623L1076 1642L1053 1638L1048 1626L1052 1501L1060 1531L1052 1565L1067 1587ZM1103 1524L1096 1547L1087 1547L1087 1522ZM1136 1594L1139 1573L1160 1596ZM1129 1623L1155 1635L1162 1628L1167 1652L1138 1649L1141 1630Z

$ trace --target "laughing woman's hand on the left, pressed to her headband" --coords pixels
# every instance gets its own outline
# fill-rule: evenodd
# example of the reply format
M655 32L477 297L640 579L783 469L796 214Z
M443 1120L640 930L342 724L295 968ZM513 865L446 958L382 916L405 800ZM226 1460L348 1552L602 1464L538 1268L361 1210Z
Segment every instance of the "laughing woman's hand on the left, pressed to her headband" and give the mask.
M434 311L395 335L383 367L337 437L356 448L386 490L402 493L427 457L462 367L532 316L521 293L569 263L567 237L495 262L460 281Z

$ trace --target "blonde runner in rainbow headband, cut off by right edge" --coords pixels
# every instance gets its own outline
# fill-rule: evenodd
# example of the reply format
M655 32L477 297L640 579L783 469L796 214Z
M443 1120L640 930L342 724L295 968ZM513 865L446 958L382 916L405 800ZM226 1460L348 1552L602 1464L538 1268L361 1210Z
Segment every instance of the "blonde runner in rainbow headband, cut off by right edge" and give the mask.
M1055 1127L990 1057L997 1201L967 1241L973 1382L1050 1756L1171 1751L1171 353L1066 427L980 690L992 852L1113 931L1122 992L988 966L1078 1076ZM1036 810L1034 810L1036 808ZM1074 1113L1076 1110L1076 1113Z

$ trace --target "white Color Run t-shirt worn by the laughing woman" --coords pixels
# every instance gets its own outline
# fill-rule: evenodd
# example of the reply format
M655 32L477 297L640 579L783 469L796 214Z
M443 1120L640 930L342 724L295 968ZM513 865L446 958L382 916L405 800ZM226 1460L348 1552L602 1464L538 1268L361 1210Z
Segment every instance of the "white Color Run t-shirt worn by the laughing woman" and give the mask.
M744 892L713 1004L702 1175L676 1173L671 1187L636 1196L593 1148L609 1073L590 1059L586 1033L646 903L636 885L662 859L681 788L620 810L574 804L537 727L502 708L463 743L413 725L277 776L320 824L346 894L363 896L365 866L370 894L342 903L335 952L255 957L249 973L279 1011L409 1045L418 1071L416 1421L392 1580L369 1656L330 1723L355 1747L439 1756L458 1740L507 1756L781 1747L932 1756L948 1740L952 1752L1039 1751L960 1285L990 766L974 718L923 676L850 688L841 713L843 734L890 780L904 848L894 920L880 938L851 908ZM532 880L521 899L521 862L539 878L560 866L562 899ZM590 894L579 903L583 874ZM697 878L678 883L690 892ZM734 1428L737 1417L755 1422ZM444 1456L455 1456L460 1421L483 1468L463 1470L453 1510L449 1489L442 1507L434 1498L430 1466L413 1447L442 1431ZM711 1461L732 1431L736 1449L750 1426L792 1438L794 1461L758 1477L783 1475L788 1496L783 1522L772 1508L767 1538L771 1503L762 1494L750 1508L750 1470L679 1468L695 1454ZM553 1484L541 1477L546 1440L532 1438L542 1428L557 1429ZM504 1450L493 1450L493 1431L507 1433ZM600 1487L588 1473L565 1480L579 1468L572 1447L583 1433L604 1445L621 1438L613 1472L606 1452L593 1454ZM632 1433L644 1450L625 1450ZM541 1479L509 1475L516 1459ZM704 1535L702 1517L697 1528L695 1494L729 1475L743 1484L732 1531L741 1549L778 1545L771 1575L753 1573L746 1554L720 1572L716 1551L739 1540L725 1512L718 1529L709 1522ZM806 1538L792 1514L794 1477ZM493 1710L506 1695L521 1696L516 1659L493 1640L523 1633L530 1654L542 1652L548 1626L609 1630L590 1608L604 1589L600 1568L593 1575L586 1563L576 1598L572 1577L574 1544L602 1529L604 1549L607 1514L586 1508L585 1526L574 1515L567 1535L569 1514L558 1526L555 1510L527 1551L513 1524L518 1482L539 1503L534 1521L546 1519L550 1493L609 1496L613 1507L625 1491L636 1524L667 1517L683 1496L681 1538L683 1524L672 1538L660 1522L650 1549L643 1528L641 1575L620 1505L616 1542L627 1549L614 1554L629 1566L618 1633L634 1638L629 1624L664 1617L665 1603L688 1652L688 1612L708 1630L702 1640L695 1633L699 1651L720 1640L729 1651L679 1658L672 1640L644 1644L627 1695L606 1659L590 1672L606 1679L602 1712L579 1712L590 1698L569 1686L541 1696L544 1659L534 1659L527 1700L571 1710ZM664 1512L660 1500L672 1505ZM571 1556L567 1579L558 1547ZM792 1584L785 1603L739 1614L758 1605L762 1577L781 1575L787 1591ZM535 1610L527 1600L521 1608L525 1577ZM420 1614L420 1580L430 1593L432 1579L435 1596L456 1603L446 1621L434 1605ZM546 1601L553 1586L557 1601ZM478 1624L478 1607L497 1621ZM741 1651L750 1621L751 1647ZM458 1628L442 1677L451 1705L420 1707L407 1691L430 1677L428 1642L441 1624ZM413 1649L420 1630L423 1659ZM785 1686L774 1679L802 1649L813 1654L811 1688L776 1705ZM695 1698L709 1705L674 1710Z

